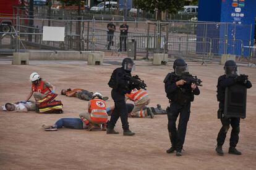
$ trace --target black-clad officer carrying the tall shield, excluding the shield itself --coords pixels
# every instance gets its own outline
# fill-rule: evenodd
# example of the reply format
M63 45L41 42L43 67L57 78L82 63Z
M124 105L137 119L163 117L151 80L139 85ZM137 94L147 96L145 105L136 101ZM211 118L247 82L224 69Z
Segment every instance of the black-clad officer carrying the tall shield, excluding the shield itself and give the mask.
M240 127L239 127L240 118L226 118L225 116L223 116L225 89L226 87L232 86L236 83L243 84L248 89L252 87L252 83L250 83L249 80L239 79L239 77L237 76L237 65L236 65L236 62L234 62L233 60L226 61L224 65L224 70L225 70L225 74L218 78L218 84L217 84L217 99L220 102L218 115L221 115L220 119L221 119L222 127L220 129L220 132L218 133L217 147L215 150L218 153L218 155L223 155L222 145L224 144L224 140L226 138L226 134L229 129L229 124L231 124L232 131L231 131L231 137L229 140L228 153L231 153L234 155L241 155L242 153L236 149L236 145L239 139L238 134L240 131Z

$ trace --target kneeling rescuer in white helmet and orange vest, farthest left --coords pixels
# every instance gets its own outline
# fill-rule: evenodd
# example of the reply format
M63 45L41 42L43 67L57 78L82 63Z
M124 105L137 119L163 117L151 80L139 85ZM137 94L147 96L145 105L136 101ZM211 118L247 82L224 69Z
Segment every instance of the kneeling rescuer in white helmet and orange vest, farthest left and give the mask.
M43 99L47 94L54 93L55 91L55 87L48 81L40 78L40 75L36 72L30 75L30 82L32 82L32 88L25 102L27 102L32 95L35 97L35 100L38 101Z

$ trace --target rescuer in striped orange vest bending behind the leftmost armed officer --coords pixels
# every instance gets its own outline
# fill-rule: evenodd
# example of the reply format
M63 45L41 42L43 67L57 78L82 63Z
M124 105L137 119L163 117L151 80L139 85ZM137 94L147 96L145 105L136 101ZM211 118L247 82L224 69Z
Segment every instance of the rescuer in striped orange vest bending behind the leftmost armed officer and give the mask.
M132 100L134 102L134 109L129 113L129 117L134 118L154 118L154 114L150 107L146 107L150 103L148 93L142 89L133 89L130 94L126 94L126 100ZM143 107L145 108L143 110Z

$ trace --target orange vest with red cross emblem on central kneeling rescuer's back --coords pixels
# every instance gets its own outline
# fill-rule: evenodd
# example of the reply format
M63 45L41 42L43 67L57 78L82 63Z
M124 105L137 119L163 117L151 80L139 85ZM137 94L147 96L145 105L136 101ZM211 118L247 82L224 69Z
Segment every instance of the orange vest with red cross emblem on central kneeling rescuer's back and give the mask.
M101 99L90 100L90 118L95 123L106 123L108 121L108 113L106 112L106 103Z

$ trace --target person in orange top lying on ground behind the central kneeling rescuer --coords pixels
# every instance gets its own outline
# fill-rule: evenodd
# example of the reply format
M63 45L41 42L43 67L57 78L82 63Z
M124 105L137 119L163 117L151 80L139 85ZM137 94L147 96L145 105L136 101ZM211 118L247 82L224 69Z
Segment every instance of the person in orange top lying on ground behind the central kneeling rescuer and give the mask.
M82 100L91 100L93 92L89 92L84 89L62 89L61 90L62 95L66 95L67 97L77 97ZM108 97L103 97L103 100L108 100Z

